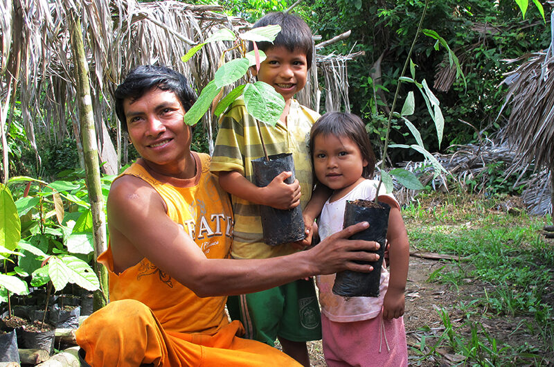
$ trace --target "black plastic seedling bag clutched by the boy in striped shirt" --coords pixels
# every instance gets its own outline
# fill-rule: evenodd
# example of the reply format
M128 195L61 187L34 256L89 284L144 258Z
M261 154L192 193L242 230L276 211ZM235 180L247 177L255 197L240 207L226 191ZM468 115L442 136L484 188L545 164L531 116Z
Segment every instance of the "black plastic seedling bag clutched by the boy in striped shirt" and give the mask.
M292 154L275 154L252 161L253 179L258 187L265 187L281 172L290 171L292 176L285 182L294 182L294 161ZM289 210L271 208L271 206L260 205L260 216L262 217L262 229L264 231L264 242L270 246L288 242L300 241L305 238L304 220L300 206Z

